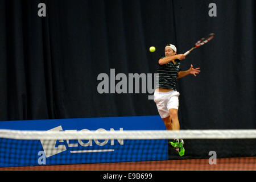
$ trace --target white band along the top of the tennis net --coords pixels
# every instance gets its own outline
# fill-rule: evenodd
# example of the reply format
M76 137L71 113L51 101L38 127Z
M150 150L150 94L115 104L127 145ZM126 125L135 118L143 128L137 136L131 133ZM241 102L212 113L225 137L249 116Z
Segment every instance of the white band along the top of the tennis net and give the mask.
M254 139L256 130L127 130L127 131L24 131L0 130L0 138L24 140L72 139Z

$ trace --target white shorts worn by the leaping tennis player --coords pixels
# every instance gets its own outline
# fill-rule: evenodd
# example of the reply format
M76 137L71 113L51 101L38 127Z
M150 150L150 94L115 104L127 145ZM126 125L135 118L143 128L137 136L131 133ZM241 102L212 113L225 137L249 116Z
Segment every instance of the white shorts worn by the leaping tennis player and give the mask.
M158 113L161 118L168 117L169 109L179 109L179 95L176 90L170 92L155 92L154 102L158 107Z

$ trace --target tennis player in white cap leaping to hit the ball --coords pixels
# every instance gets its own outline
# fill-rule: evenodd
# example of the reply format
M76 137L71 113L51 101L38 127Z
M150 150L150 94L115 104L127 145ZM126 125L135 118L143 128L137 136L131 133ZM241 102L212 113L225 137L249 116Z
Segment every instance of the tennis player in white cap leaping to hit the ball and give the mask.
M180 130L177 115L180 93L176 90L177 79L189 74L196 76L200 72L200 68L194 69L192 64L187 71L181 71L180 60L185 59L185 55L177 55L176 52L177 49L172 44L167 44L165 47L165 57L158 61L158 83L154 92L154 102L167 130ZM179 152L180 156L184 155L183 139L177 138L168 143Z

